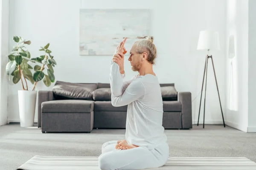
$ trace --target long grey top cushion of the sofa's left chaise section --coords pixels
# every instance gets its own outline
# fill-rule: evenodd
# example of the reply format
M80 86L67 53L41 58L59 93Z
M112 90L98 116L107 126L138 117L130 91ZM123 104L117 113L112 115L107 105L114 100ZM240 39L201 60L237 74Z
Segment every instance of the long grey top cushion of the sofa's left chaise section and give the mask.
M90 113L94 101L90 100L52 100L42 102L43 113Z

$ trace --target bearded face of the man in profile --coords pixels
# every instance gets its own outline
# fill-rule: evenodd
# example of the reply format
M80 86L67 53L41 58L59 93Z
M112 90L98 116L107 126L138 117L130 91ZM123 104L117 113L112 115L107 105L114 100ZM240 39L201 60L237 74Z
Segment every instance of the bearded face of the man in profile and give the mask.
M128 58L128 61L131 62L132 71L140 71L140 67L142 64L141 54L137 54L135 52L135 48L136 48L136 45L133 45L130 51L130 57Z

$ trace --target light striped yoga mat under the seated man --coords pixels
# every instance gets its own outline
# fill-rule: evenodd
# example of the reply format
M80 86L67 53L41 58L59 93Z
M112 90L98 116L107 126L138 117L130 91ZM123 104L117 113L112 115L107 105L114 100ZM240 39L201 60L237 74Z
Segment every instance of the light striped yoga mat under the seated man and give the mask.
M100 169L96 156L34 156L16 170ZM245 157L169 157L164 166L147 170L256 170L256 163Z

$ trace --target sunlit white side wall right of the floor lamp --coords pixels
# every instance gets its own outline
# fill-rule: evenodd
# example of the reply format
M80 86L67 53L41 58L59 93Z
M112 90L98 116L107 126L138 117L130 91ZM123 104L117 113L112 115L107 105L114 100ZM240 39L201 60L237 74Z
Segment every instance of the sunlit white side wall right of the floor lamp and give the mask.
M227 45L234 37L234 56L227 48L227 125L247 131L248 0L227 0ZM232 44L232 42L231 42ZM232 46L232 45L231 45Z

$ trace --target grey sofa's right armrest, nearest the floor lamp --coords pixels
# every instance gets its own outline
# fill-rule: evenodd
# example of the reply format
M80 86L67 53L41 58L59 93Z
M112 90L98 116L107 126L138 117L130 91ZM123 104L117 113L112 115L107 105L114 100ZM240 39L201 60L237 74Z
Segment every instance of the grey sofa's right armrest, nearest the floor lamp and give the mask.
M190 92L178 92L178 101L181 103L182 128L192 128L192 101Z

